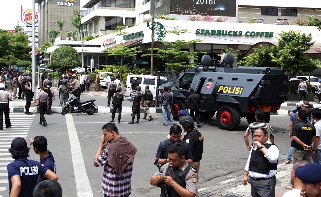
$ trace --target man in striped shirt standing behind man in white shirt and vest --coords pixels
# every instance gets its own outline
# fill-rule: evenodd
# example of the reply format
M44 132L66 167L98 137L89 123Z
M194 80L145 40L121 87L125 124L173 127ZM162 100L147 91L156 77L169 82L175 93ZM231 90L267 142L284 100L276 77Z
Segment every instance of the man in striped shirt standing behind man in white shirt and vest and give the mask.
M264 111L262 109L259 109L255 112L255 119L256 122L251 123L248 125L245 133L244 133L244 140L245 140L245 144L246 147L248 149L248 151L251 151L251 148L253 146L253 142L254 142L254 131L256 128L258 127L263 127L264 129L266 129L267 131L270 131L270 141L274 144L274 132L273 129L271 127L271 125L269 124L269 128L268 129L268 124L265 123L265 114ZM252 133L252 145L249 144L248 142L248 136Z

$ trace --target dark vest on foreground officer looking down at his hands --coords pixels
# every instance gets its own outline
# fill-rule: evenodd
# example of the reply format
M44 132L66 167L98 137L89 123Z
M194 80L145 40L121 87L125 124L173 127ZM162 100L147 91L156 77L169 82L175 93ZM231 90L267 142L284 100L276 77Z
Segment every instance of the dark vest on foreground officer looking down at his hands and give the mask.
M168 169L170 167L168 167ZM188 165L184 171L182 171L179 168L173 168L173 172L176 177L175 182L178 183L178 185L182 186L183 188L186 188L185 177L186 177L187 173L190 171L190 169L191 169L190 165ZM167 170L165 176L170 176L168 170ZM181 197L172 186L169 186L166 184L166 189L167 189L167 193L168 193L169 197Z

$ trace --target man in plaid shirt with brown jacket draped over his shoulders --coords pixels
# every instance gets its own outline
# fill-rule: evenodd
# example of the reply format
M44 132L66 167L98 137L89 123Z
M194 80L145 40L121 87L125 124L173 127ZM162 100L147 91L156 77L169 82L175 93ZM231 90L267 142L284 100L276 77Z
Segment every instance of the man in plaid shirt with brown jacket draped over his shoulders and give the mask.
M126 137L119 136L114 123L107 123L102 129L104 135L94 159L94 166L104 166L101 192L105 197L129 197L137 149Z

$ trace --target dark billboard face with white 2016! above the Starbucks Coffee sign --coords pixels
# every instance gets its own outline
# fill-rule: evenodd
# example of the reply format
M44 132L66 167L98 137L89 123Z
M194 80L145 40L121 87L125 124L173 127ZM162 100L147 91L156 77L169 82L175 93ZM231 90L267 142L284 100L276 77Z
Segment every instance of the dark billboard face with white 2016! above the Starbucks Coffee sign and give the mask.
M170 13L235 17L236 0L171 0Z

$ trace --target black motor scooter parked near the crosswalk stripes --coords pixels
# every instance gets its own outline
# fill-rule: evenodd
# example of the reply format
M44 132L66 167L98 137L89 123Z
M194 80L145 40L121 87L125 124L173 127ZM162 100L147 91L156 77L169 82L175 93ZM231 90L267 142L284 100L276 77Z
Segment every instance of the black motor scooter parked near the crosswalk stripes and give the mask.
M95 99L91 100L80 100L78 102L79 106L77 109L74 108L74 105L77 103L77 97L73 94L70 94L68 101L65 103L64 108L62 109L61 114L66 115L71 108L71 113L85 112L88 115L92 115L96 112Z

